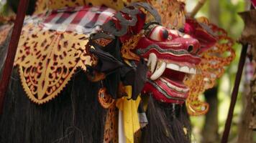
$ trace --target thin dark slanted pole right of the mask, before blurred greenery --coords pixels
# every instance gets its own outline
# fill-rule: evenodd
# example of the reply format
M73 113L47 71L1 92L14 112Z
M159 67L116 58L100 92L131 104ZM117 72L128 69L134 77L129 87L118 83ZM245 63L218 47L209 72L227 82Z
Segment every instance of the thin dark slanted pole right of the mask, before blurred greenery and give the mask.
M229 105L229 114L227 115L227 121L225 123L225 129L224 129L224 133L222 135L221 143L227 143L227 141L229 139L229 131L230 131L230 127L232 124L234 106L237 102L237 94L238 94L239 84L240 84L241 77L242 77L242 71L244 69L244 63L245 63L246 56L247 56L247 49L248 49L248 44L243 44L242 51L240 54L238 69L237 69L237 75L236 75L236 79L234 81L234 88L232 91L231 102Z

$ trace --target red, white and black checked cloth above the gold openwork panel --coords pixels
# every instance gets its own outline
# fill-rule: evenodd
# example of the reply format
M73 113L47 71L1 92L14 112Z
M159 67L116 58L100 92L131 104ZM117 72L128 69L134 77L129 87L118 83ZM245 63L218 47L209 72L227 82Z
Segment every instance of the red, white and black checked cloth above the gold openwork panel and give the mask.
M40 24L45 30L89 34L106 23L116 11L104 6L79 6L50 11Z

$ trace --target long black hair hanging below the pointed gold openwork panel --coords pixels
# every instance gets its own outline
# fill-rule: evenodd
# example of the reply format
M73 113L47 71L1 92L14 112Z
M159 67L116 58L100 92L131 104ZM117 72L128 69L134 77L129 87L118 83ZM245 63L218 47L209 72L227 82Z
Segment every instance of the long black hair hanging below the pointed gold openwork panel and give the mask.
M78 71L58 97L37 105L24 93L15 68L0 115L0 142L103 142L106 109L98 90L99 83Z

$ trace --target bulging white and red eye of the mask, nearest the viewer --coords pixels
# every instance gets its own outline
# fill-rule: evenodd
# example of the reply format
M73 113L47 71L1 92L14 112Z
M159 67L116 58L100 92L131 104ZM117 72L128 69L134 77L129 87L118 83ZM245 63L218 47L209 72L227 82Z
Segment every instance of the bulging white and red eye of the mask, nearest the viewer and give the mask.
M168 39L169 32L163 26L155 26L149 34L149 38L155 41L165 41Z

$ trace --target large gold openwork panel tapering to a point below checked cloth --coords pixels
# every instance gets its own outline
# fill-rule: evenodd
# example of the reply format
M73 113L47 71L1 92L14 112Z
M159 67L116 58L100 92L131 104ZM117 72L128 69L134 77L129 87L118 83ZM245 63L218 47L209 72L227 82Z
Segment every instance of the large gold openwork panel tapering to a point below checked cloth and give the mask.
M88 36L72 32L44 31L27 24L22 29L14 66L19 66L29 99L43 104L55 98L78 67L93 63L86 51Z

